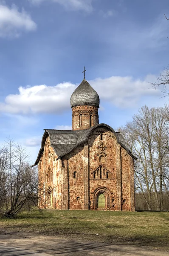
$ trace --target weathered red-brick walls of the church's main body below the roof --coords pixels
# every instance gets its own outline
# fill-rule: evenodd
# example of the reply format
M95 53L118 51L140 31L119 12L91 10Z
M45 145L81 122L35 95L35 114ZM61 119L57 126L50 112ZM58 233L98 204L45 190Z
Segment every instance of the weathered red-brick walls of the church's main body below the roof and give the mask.
M45 189L45 207L49 188L56 209L98 209L98 196L105 197L105 208L135 210L134 165L132 157L117 143L109 128L96 128L88 143L56 161L47 137L39 161L39 180ZM47 177L49 170L52 178Z

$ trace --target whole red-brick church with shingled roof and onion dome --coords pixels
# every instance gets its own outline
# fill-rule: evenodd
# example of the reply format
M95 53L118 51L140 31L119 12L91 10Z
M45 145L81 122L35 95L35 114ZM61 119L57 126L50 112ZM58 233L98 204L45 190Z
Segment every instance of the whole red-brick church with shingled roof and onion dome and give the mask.
M135 211L136 158L120 133L99 124L99 103L84 78L70 98L72 130L45 129L35 162L44 207Z

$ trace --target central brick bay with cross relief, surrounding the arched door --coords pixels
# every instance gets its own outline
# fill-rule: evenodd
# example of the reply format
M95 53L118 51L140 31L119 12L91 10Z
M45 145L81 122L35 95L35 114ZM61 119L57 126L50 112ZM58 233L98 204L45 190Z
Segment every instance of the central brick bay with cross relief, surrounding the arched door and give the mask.
M115 135L99 127L90 134L90 209L96 209L97 196L104 192L106 208L116 209L116 139Z

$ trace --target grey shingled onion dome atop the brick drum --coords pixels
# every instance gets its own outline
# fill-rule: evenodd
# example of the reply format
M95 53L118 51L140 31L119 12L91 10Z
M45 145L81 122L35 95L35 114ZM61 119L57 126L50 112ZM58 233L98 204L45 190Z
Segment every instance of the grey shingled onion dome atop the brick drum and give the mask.
M95 105L99 107L100 99L96 90L84 79L82 83L74 90L70 97L71 107L79 105Z

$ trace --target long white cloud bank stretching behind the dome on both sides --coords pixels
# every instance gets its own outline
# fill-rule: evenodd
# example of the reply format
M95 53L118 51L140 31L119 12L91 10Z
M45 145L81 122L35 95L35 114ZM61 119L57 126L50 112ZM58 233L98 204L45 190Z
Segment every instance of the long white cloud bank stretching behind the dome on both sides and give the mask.
M97 78L89 81L98 92L100 99L111 102L119 108L132 108L144 96L159 99L160 90L150 90L156 76L146 76L144 80L133 79L130 76L112 76L107 79ZM70 109L70 96L77 85L70 82L56 86L36 85L33 87L19 87L18 94L8 95L5 102L0 102L1 113L34 114L34 113L62 113ZM101 102L102 104L102 102Z

